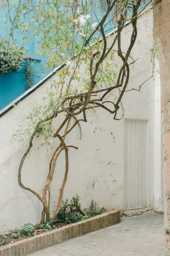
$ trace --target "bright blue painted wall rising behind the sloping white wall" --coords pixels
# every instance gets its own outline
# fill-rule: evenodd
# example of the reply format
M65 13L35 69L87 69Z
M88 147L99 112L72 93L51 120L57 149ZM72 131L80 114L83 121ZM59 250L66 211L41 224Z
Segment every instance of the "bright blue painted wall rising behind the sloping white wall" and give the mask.
M7 10L0 10L0 17L5 16L5 12ZM12 14L10 14L12 16ZM3 19L0 19L0 26L4 25L5 21ZM8 23L10 26L10 23ZM106 26L106 33L108 34L112 27L111 25ZM9 31L4 29L3 27L0 27L0 36L5 37ZM41 62L36 62L33 64L34 69L34 82L33 84L39 82L44 76L48 75L48 73L51 72L51 70L44 70L44 67L46 65L46 58L47 56L39 56L36 54L36 50L38 49L38 37L30 41L27 39L26 42L22 42L22 31L15 30L14 36L16 38L17 43L21 46L24 45L25 50L27 50L28 53L30 53L32 58L35 59L41 59ZM29 37L31 36L31 32L29 33ZM43 73L42 73L43 70ZM8 74L0 75L0 110L4 108L7 104L9 104L11 101L14 101L17 97L19 97L23 92L25 92L25 85L26 80L25 77L25 71L24 66L21 70L18 72L10 72Z

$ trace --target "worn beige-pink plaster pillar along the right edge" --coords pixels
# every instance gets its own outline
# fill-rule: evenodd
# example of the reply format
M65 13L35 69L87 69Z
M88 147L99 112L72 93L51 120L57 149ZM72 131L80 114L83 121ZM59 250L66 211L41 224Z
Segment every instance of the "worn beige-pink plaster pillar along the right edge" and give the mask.
M161 81L161 113L164 146L165 236L166 256L170 255L170 40L169 0L154 1L154 40L159 53ZM166 22L166 26L165 26Z

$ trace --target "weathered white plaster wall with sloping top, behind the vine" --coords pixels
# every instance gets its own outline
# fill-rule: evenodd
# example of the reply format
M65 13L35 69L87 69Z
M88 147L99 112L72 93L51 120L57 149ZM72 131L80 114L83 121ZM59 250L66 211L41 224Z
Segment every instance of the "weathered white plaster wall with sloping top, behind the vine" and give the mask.
M142 16L138 22L138 35L132 50L132 57L136 60L130 66L130 80L128 89L139 88L152 74L153 64L151 55L153 49L152 14ZM132 25L123 31L122 51L128 47L129 33ZM57 80L58 74L53 79ZM31 192L23 190L18 184L18 169L22 155L28 145L28 140L22 143L12 138L18 129L21 119L27 115L22 109L31 110L35 105L34 99L41 100L46 87L51 80L44 83L32 95L21 101L17 107L10 110L0 119L0 229L12 229L24 223L35 223L40 220L42 204ZM141 92L132 90L126 92L122 103L125 118L149 120L149 207L154 202L154 137L155 137L155 82L147 81ZM117 92L116 92L117 93ZM113 99L111 94L107 99ZM121 115L121 113L120 113ZM81 123L82 140L78 150L69 149L69 174L64 190L64 198L73 195L81 197L82 207L87 207L92 199L107 209L119 207L123 210L124 198L124 120L113 120L113 116L104 109L96 113L89 112L87 123ZM61 122L60 116L56 119ZM93 121L93 122L91 122ZM75 129L69 135L68 143L77 145L79 131ZM25 159L22 169L22 183L41 194L49 170L51 152L45 147L37 146L43 138L38 137L34 146ZM58 138L54 141L58 143ZM64 152L61 153L56 165L51 186L51 208L58 199L58 191L64 177ZM159 171L159 170L158 170Z

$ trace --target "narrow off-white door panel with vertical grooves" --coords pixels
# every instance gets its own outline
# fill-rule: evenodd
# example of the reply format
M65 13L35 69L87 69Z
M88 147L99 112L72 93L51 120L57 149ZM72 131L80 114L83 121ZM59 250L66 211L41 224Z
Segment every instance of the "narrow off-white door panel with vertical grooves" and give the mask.
M147 121L125 119L125 210L147 208Z

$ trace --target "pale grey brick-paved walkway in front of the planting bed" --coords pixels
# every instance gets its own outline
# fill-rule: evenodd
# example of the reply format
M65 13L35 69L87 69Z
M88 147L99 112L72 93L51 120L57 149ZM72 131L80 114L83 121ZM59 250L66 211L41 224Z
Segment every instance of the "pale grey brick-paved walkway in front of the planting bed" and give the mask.
M35 256L164 255L163 214L121 218L121 223L29 254Z

